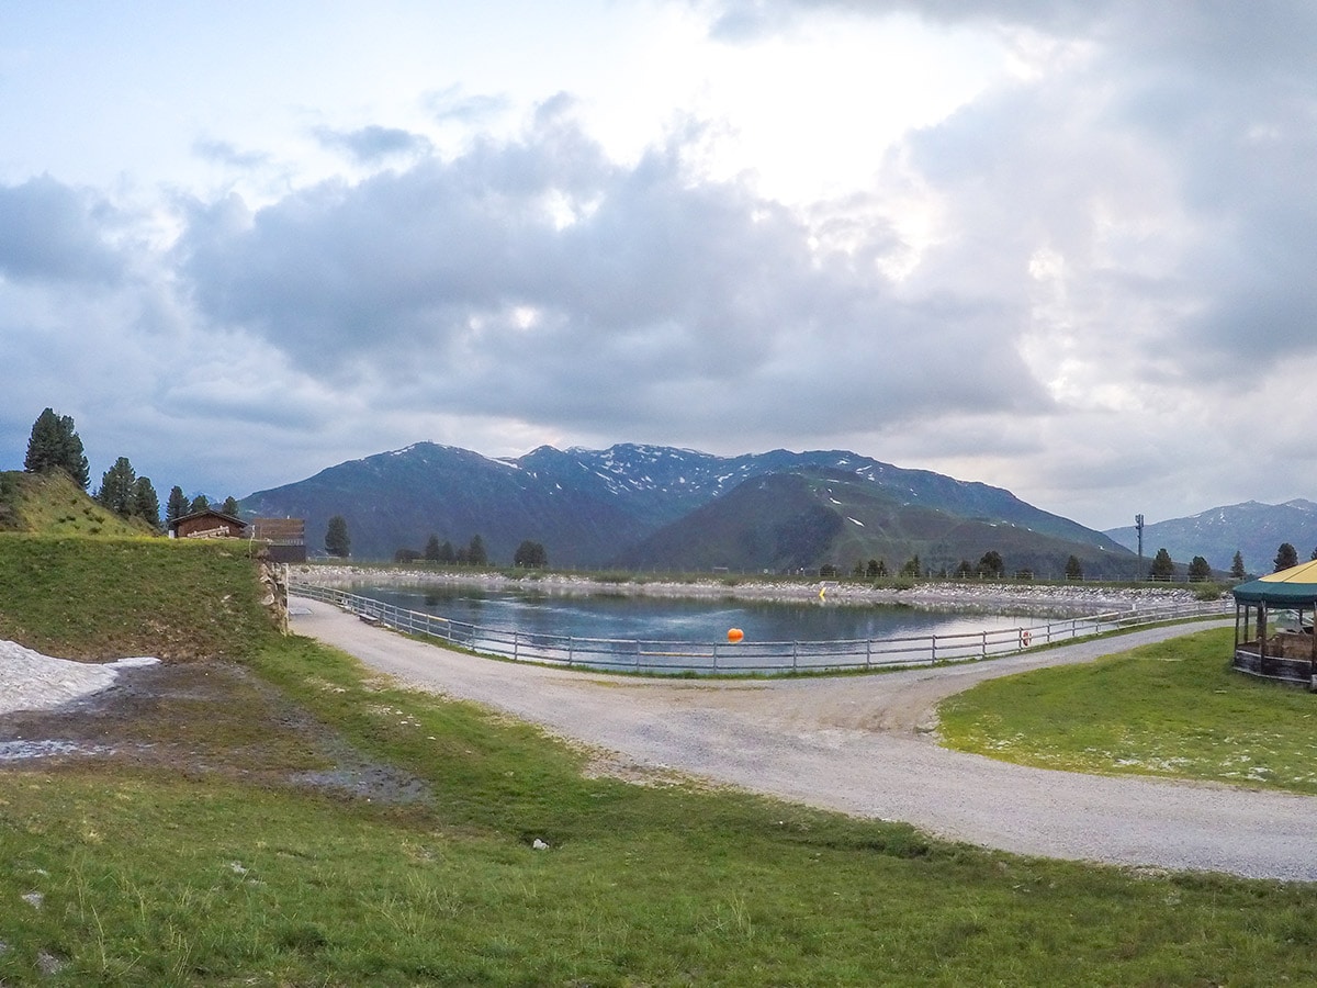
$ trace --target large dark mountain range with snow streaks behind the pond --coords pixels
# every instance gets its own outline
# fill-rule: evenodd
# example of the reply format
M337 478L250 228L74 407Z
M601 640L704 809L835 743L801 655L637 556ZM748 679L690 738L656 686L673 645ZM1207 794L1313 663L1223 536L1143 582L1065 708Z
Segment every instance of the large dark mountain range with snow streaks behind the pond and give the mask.
M503 565L539 541L560 568L849 572L874 559L894 573L918 555L938 572L990 551L1008 572L1040 576L1060 576L1069 556L1090 577L1129 577L1137 564L1112 537L1001 487L846 451L722 457L620 444L491 458L417 443L254 493L241 508L304 518L312 551L341 515L353 557L375 560L433 534L454 547L479 535Z

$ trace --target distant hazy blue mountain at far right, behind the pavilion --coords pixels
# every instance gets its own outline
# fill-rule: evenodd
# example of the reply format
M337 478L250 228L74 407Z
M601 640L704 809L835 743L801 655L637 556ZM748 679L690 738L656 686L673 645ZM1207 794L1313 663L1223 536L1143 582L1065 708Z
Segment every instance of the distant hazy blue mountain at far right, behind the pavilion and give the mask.
M1138 531L1133 526L1112 528L1106 535L1138 551ZM1246 501L1143 526L1143 555L1148 559L1164 548L1173 560L1202 556L1213 568L1223 570L1230 569L1238 552L1249 573L1270 573L1285 541L1295 547L1300 560L1313 553L1317 505L1303 498L1283 505Z

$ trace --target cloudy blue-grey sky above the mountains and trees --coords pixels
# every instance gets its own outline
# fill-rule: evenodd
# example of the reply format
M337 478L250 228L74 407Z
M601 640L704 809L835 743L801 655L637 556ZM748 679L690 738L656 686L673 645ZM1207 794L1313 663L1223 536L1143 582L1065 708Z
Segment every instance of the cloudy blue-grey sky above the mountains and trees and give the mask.
M0 469L849 449L1317 499L1317 4L0 5Z

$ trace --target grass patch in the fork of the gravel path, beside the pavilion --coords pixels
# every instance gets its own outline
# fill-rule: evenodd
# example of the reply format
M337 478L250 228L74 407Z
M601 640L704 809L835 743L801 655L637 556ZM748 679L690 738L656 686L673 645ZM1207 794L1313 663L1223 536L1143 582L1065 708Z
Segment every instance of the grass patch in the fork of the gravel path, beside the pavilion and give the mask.
M1317 697L1230 669L1231 631L984 682L939 710L944 743L1043 768L1317 793Z

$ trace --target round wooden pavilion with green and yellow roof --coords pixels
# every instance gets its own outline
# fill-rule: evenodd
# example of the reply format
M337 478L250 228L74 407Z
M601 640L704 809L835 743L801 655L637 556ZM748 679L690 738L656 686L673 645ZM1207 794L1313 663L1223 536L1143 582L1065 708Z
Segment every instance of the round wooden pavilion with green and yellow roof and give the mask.
M1317 689L1317 560L1234 589L1234 668Z

